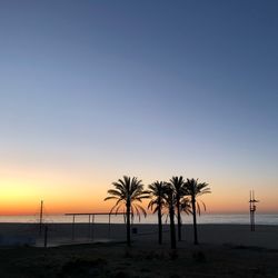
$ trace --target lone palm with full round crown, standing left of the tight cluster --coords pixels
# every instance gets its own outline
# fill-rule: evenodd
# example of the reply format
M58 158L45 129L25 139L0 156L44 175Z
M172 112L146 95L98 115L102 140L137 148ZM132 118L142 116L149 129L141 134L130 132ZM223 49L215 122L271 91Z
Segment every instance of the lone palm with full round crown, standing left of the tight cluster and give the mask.
M105 198L105 201L110 199L116 200L116 205L111 208L110 212L115 211L117 214L123 207L127 226L127 245L131 246L130 216L133 217L135 214L137 214L140 219L140 212L142 212L146 217L146 210L137 202L141 202L142 199L149 198L149 191L143 190L141 180L138 180L136 177L130 178L123 176L123 179L112 182L112 186L115 189L109 189L107 191L110 196Z

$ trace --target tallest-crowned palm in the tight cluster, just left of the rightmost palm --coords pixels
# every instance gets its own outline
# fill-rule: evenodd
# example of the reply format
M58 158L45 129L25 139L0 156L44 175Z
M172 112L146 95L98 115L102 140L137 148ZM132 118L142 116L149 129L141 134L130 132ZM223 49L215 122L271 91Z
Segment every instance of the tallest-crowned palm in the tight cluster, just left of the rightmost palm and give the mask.
M175 189L175 198L176 198L176 210L177 210L177 218L178 218L178 240L181 240L181 209L180 209L180 201L185 196L185 179L182 176L180 177L172 177L170 179L170 183Z

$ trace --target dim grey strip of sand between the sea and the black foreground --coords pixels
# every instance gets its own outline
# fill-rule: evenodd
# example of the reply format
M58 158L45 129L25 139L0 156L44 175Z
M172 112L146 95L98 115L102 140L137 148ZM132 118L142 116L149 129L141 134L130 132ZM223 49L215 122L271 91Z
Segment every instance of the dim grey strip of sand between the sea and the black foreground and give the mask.
M157 242L157 225L135 225L137 232L131 234L135 242L149 245ZM135 230L133 230L135 231ZM278 249L278 226L257 226L250 231L246 225L199 225L199 241L202 245L238 245ZM39 236L39 226L34 224L0 224L0 237L31 237L42 246L44 237ZM120 224L49 224L48 245L75 242L125 241L126 226ZM192 226L182 226L182 241L178 246L192 244ZM163 225L163 242L169 244L169 226Z

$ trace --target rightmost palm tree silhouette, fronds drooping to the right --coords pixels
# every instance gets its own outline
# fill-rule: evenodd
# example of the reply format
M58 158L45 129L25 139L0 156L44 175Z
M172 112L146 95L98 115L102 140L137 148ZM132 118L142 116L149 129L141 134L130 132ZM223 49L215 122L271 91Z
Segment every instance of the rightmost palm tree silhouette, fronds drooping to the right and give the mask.
M210 188L208 188L208 183L206 182L198 182L198 179L187 179L187 182L185 185L187 195L191 198L191 208L192 208L192 216L193 216L193 242L195 245L198 245L198 232L197 232L197 219L196 219L196 212L200 215L201 209L200 205L197 201L197 197L210 193ZM206 210L206 205L202 202L203 209Z

